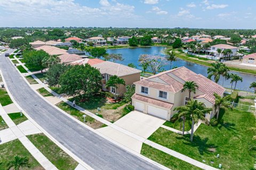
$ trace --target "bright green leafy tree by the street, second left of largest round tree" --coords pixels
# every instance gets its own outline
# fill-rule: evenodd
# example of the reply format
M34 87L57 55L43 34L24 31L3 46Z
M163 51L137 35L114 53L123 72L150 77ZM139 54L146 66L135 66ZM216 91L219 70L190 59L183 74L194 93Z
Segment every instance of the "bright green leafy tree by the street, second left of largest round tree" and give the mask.
M41 73L43 73L44 58L50 58L50 55L42 49L31 50L31 51L24 52L23 58L26 64L39 67L41 69Z

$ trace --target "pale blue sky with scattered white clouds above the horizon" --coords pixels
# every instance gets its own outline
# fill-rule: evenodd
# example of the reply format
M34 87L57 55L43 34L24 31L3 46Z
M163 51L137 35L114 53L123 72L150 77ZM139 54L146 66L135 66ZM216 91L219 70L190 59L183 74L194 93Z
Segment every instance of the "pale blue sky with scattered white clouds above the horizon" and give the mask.
M256 28L255 0L1 0L0 27Z

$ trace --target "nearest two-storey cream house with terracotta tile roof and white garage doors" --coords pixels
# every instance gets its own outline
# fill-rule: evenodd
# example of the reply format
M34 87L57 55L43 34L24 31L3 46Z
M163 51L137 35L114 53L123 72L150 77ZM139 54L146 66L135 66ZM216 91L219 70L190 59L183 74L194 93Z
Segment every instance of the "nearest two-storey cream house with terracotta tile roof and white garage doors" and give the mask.
M225 89L186 67L165 71L134 82L135 94L132 96L132 105L137 111L170 121L176 113L173 109L185 105L189 100L188 91L181 92L186 81L195 81L198 85L196 94L191 93L191 97L203 102L206 107L213 108L211 113L205 115L210 120L214 116L213 93L223 96Z

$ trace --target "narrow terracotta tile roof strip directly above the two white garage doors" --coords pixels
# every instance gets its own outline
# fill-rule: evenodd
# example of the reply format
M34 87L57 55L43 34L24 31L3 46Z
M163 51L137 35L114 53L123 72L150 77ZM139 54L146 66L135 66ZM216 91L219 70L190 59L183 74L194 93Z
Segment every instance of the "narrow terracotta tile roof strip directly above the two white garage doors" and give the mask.
M172 106L173 106L173 104L171 104L171 103L167 103L165 101L156 100L156 99L153 99L153 98L141 96L141 95L138 95L138 94L134 94L132 96L132 99L143 101L145 103L155 105L155 106L159 106L159 107L163 107L163 108L167 108L167 109L171 109Z

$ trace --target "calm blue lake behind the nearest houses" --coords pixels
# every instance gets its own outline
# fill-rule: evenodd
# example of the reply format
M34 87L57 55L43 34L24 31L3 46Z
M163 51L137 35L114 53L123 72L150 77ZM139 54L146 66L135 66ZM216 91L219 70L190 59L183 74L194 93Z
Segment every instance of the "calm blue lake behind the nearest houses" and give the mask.
M161 55L164 56L163 50L165 47L158 47L158 46L153 46L153 47L138 47L138 48L121 48L121 49L107 49L107 53L109 54L122 54L124 61L118 61L117 63L127 65L129 63L133 63L134 65L137 66L138 69L141 69L139 66L139 56L141 54L150 54L150 55ZM173 66L185 66L189 70L194 71L197 74L202 74L205 77L207 77L207 66L199 65L199 64L194 64L190 62L186 62L183 60L177 60L175 62L172 62L172 67ZM165 70L170 69L170 65L166 65L164 67ZM244 73L239 73L239 72L233 72L230 71L230 73L235 73L238 74L243 78L243 82L238 82L237 83L237 89L239 90L244 90L244 91L253 91L253 89L250 89L250 84L253 81L256 81L256 75L251 75L251 74L244 74ZM222 84L223 78L220 78L219 84ZM226 88L231 88L230 80L225 80L224 81L224 87ZM233 86L234 88L234 86Z

